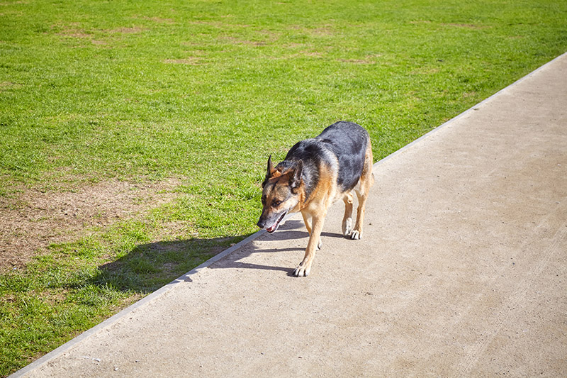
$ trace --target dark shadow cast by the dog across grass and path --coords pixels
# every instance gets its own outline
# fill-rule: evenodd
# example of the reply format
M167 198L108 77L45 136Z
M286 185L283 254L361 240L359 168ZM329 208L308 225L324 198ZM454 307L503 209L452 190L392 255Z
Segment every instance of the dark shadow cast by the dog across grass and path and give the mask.
M308 239L303 222L293 219L283 223L275 233L264 233L260 236L264 240L273 241L274 248L257 249L254 245L251 248L248 245L233 246L235 239L242 240L247 236L249 235L213 239L194 238L136 245L117 260L100 265L97 274L86 283L101 287L111 285L123 291L140 291L147 294L172 282L172 279L174 282L191 281L191 275L197 272L194 267L227 248L234 250L218 262L208 264L208 268L264 269L283 271L291 275L293 273L291 267L259 265L238 260L254 253L301 252L305 250ZM342 238L342 235L336 233L322 233L322 236ZM305 243L288 242L296 239L305 239Z

